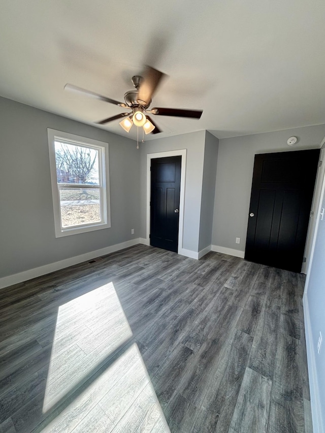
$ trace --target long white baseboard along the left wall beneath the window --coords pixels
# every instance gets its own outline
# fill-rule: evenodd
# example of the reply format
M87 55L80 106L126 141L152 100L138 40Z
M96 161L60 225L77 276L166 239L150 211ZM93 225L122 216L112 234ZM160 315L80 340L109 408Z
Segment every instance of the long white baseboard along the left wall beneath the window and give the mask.
M40 277L41 275L49 274L50 272L68 268L74 264L91 260L102 255L110 254L114 251L122 250L123 248L132 247L133 245L140 243L140 238L132 239L131 241L122 242L121 244L111 245L110 247L102 248L100 250L91 251L89 253L70 257L64 260L56 261L54 263L45 264L39 268L29 269L28 271L20 272L19 274L9 275L8 277L0 278L0 289L13 284L22 283L23 281L31 280L32 278Z

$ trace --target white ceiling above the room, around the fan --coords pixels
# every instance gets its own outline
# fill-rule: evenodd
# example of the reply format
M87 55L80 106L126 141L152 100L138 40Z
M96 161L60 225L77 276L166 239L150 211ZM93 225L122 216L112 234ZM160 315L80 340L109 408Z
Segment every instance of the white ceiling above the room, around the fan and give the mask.
M323 0L3 0L0 95L84 123L125 111L144 64L166 73L152 106L203 109L200 120L152 116L161 138L218 138L325 123ZM131 138L118 120L96 125Z

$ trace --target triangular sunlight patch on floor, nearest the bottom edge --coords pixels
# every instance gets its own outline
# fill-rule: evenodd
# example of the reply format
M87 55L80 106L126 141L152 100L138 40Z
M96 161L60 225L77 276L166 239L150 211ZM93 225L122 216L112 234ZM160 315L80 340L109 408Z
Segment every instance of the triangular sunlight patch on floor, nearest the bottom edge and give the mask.
M54 431L170 433L135 343L42 429Z

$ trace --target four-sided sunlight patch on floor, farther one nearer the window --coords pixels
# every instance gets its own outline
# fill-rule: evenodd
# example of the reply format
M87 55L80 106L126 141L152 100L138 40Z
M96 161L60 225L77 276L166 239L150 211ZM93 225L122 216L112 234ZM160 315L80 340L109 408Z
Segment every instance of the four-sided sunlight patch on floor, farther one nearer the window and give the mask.
M43 413L79 388L131 337L132 330L112 282L60 306Z

